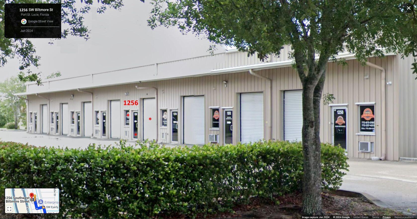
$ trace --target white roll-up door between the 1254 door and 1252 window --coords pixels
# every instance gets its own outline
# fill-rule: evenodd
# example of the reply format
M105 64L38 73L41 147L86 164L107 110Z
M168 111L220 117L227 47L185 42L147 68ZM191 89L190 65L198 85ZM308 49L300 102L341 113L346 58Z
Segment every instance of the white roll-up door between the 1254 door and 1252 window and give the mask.
M205 143L204 96L186 96L183 101L183 142Z

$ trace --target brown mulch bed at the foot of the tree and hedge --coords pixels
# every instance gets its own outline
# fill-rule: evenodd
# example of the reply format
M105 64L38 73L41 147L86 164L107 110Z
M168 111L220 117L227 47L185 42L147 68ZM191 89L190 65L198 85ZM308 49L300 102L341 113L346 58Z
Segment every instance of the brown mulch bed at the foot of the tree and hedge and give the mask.
M205 218L233 218L233 219L291 219L301 218L301 194L294 193L276 198L279 201L264 199L252 199L248 205L239 205L234 208L234 213L212 214ZM372 204L364 196L346 191L322 193L323 213L325 215L403 215L401 212L382 208ZM0 199L0 206L4 208L4 199ZM5 214L0 211L0 219L3 218L43 218L41 214ZM167 218L186 218L181 215L171 215ZM198 215L197 218L204 218Z

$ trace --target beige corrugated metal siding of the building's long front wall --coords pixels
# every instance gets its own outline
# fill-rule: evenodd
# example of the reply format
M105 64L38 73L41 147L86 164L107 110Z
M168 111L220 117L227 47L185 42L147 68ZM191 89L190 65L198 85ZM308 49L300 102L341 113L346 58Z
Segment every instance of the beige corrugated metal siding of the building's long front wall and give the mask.
M228 53L226 53L228 54ZM243 58L243 57L241 57ZM414 119L412 117L412 107L409 107L409 111L404 111L404 109L398 109L396 106L399 106L399 101L401 104L413 103L417 104L412 98L412 95L407 96L407 100L404 99L401 95L398 95L397 90L400 89L402 93L408 92L408 88L402 86L399 88L398 78L395 76L397 71L397 58L396 56L387 56L386 58L370 58L370 62L377 65L381 65L387 70L387 81L392 81L391 86L386 86L387 88L387 158L391 160L398 159L398 114L409 114L409 117L402 118L404 123L407 124L409 130L414 130L412 128L416 125L410 124L409 119ZM237 58L233 63L241 63L242 60ZM231 65L231 64L230 64ZM152 82L141 82L141 83L132 83L118 86L106 86L100 88L92 88L87 91L93 91L93 108L95 111L108 111L109 101L110 100L121 100L122 110L139 110L139 106L123 106L124 100L138 100L141 103L142 98L153 98L155 97L155 91L153 89L143 89L138 90L135 88L136 85L140 87L156 87L158 88L158 115L161 115L160 109L168 109L171 111L173 109L178 110L178 121L182 121L182 97L183 96L198 96L203 95L204 105L206 110L205 115L205 130L206 130L206 142L208 139L208 134L219 134L221 142L224 139L223 136L223 126L224 126L224 115L223 111L220 111L221 123L220 130L210 130L211 126L211 111L208 110L210 106L220 106L220 107L233 107L234 109L234 118L233 123L236 125L234 130L234 143L237 143L239 139L239 93L242 92L264 92L264 133L265 138L273 139L282 139L282 91L284 90L296 90L301 89L301 82L299 77L294 69L291 67L286 68L276 68L276 69L267 69L261 70L258 72L262 76L272 79L272 136L269 136L269 127L271 123L266 123L269 119L270 107L269 107L269 96L271 95L269 91L269 82L264 79L251 76L247 72L243 73L231 73L231 74L221 74L214 76L201 76L201 77L188 77L188 78L176 78L162 81L152 81ZM372 156L381 156L381 73L379 70L370 68L369 66L362 66L356 60L348 60L347 65L343 68L342 65L337 65L336 63L329 63L326 71L327 79L324 86L323 93L332 93L335 96L334 103L348 103L348 156L370 158ZM406 74L406 73L403 73ZM410 73L407 73L409 77L412 77ZM369 79L365 79L364 76L369 75ZM121 72L118 73L118 77L123 77ZM404 82L407 82L405 79L402 79ZM227 81L227 87L224 86L222 81ZM409 80L408 83L414 83L414 80ZM413 84L414 86L414 84ZM417 86L414 86L414 88ZM417 89L417 88L415 88ZM128 96L125 93L129 93ZM417 93L416 90L413 91ZM74 94L75 97L73 100L70 100L70 94ZM69 103L70 111L80 111L82 102L91 101L91 95L89 93L80 93L78 91L69 91L69 92L58 92L43 94L43 96L50 96L51 102L50 107L53 111L59 110L59 103ZM399 98L398 98L399 96ZM38 116L40 115L40 104L47 104L48 101L36 97L34 95L29 95L29 111L37 111ZM358 136L355 135L359 129L359 110L355 105L356 102L376 102L375 104L375 115L376 115L376 136ZM413 106L414 106L413 105ZM408 106L408 105L407 105ZM415 106L414 106L415 108ZM332 126L329 124L331 120L331 107L323 106L321 111L321 124L320 127L320 137L322 141L332 142L331 129ZM139 112L141 112L139 110ZM122 113L121 113L122 114ZM168 113L171 115L171 113ZM141 115L139 116L139 118ZM160 116L158 116L160 119ZM171 123L169 122L171 117L168 118L168 128L159 128L158 138L161 141L161 133L171 133ZM39 122L40 120L38 120ZM121 121L123 121L123 115L121 115ZM158 126L161 122L158 121ZM139 124L141 127L142 124ZM101 126L100 126L101 127ZM122 127L122 133L124 131L130 131L131 127ZM40 130L40 124L38 124L38 132ZM182 139L182 124L179 124L179 138ZM400 129L400 132L404 131ZM101 130L100 130L101 133ZM141 131L139 131L141 133ZM410 133L413 133L410 131ZM123 137L123 135L122 135ZM139 137L141 138L141 136ZM163 143L169 143L171 136L168 135L167 140L162 141ZM402 140L406 145L412 145L416 139L414 135L407 136L407 139ZM358 141L374 141L375 148L372 153L361 153L358 151ZM180 142L181 143L181 142ZM409 149L411 151L411 149ZM415 150L414 150L415 151ZM413 152L415 153L415 152Z

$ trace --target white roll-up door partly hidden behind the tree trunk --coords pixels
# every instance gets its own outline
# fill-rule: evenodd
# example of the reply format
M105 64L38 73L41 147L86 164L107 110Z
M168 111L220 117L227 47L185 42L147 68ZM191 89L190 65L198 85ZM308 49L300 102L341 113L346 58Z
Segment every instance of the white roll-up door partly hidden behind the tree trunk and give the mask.
M302 128L302 91L284 91L284 140L301 141Z

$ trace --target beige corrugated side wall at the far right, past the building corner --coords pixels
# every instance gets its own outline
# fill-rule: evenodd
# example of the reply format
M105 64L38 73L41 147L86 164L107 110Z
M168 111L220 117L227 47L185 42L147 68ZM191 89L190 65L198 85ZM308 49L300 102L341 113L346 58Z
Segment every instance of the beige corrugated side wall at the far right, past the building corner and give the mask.
M399 73L399 156L417 158L417 81L412 74L412 57L397 58Z

